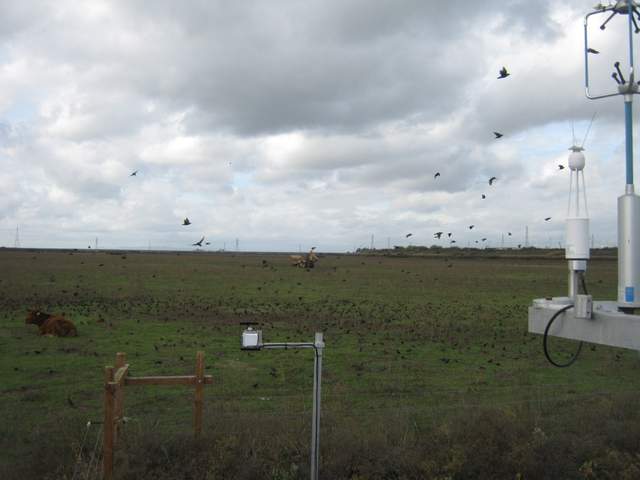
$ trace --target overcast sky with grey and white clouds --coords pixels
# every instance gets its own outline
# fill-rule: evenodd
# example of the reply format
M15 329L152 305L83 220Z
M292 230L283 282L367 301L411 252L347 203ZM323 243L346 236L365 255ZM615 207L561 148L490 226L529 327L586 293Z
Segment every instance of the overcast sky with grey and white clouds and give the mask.
M0 246L558 246L558 164L596 111L589 213L615 245L623 103L584 96L593 3L0 0ZM597 26L612 91L624 19Z

